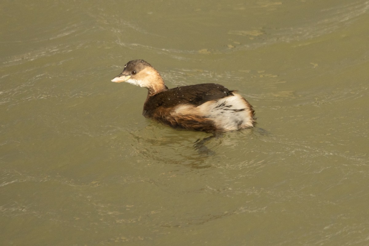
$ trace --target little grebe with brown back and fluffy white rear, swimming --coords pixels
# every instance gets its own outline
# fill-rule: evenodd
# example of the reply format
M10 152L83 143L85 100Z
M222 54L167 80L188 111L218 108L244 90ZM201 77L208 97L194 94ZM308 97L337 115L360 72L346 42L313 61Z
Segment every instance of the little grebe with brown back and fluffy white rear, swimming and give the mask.
M168 89L159 72L144 60L131 60L111 80L148 89L142 114L174 128L224 132L254 127L254 109L240 94L220 84Z

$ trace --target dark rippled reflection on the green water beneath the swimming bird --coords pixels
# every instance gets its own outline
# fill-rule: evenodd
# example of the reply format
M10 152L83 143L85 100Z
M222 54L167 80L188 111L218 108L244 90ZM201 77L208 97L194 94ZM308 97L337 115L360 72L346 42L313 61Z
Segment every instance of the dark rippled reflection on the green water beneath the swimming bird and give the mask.
M245 156L255 148L255 143L249 143L271 136L268 131L256 127L209 136L203 132L179 131L153 124L155 127L148 125L128 134L131 156L139 156L150 164L175 164L191 169L222 166L224 157L231 152L240 148L241 156Z

